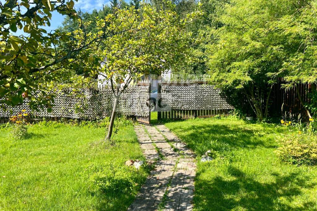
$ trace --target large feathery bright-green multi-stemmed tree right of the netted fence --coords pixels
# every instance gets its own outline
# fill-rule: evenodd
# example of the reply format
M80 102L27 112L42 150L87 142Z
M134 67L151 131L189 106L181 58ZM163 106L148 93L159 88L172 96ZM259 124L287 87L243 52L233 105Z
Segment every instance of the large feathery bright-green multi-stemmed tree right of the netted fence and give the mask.
M221 27L208 29L210 42L206 47L212 81L224 89L243 92L261 121L263 113L267 116L268 96L277 76L288 80L289 86L315 81L315 4L232 0L220 7L217 22ZM312 42L307 46L308 40ZM304 53L308 48L311 53Z

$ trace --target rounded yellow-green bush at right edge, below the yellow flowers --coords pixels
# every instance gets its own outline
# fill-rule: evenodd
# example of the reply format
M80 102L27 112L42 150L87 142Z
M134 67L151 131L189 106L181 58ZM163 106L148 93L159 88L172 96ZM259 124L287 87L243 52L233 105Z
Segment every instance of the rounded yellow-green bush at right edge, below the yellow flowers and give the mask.
M275 150L279 158L297 165L317 164L317 137L312 134L297 134L278 141L280 147Z

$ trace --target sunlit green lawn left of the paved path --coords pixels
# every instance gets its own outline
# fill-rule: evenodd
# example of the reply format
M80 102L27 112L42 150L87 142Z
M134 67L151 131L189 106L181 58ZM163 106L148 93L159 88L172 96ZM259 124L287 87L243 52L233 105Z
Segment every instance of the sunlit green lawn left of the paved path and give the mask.
M15 141L0 132L0 210L126 210L147 176L127 191L103 192L90 180L92 164L144 160L133 126L100 142L105 129L62 125L31 126ZM133 167L130 167L131 170Z

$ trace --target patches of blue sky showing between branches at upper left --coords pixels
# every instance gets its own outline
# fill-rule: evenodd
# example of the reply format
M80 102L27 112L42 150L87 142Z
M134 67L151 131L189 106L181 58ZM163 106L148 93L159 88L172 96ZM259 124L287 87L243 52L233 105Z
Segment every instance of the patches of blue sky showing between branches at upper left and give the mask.
M3 0L0 0L1 2L4 2ZM125 0L126 2L130 2L130 0ZM109 0L78 0L77 2L75 2L75 9L77 11L79 11L79 9L81 9L82 12L91 12L94 9L102 9L102 4L106 5L106 4L110 4ZM51 26L46 26L43 27L45 30L47 30L47 32L50 32L54 29L56 29L58 26L61 26L63 20L64 20L65 16L62 16L61 14L59 14L58 12L53 12L52 13L52 20L50 21ZM14 33L16 35L21 35L21 34L25 34L23 32L23 30L19 30Z

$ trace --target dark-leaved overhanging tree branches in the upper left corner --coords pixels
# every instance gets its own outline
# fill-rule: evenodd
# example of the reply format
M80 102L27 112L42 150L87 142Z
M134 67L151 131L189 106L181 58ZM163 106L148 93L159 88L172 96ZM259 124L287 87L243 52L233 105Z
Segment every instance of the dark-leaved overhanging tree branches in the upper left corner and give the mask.
M80 82L74 73L78 68L91 74L91 69L99 66L92 55L92 46L113 36L111 30L86 29L94 22L83 22L74 10L74 1L60 0L27 1L7 0L0 2L0 106L15 106L29 98L31 109L52 108L54 98L49 93L56 86L68 82ZM68 15L81 23L81 27L67 32L55 30L47 32L52 12ZM106 14L100 17L104 22ZM92 30L94 27L91 27ZM25 35L14 35L17 29ZM116 35L120 34L116 31ZM78 83L75 83L79 85ZM37 94L35 94L37 92Z

